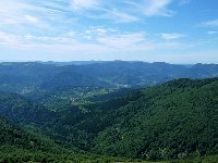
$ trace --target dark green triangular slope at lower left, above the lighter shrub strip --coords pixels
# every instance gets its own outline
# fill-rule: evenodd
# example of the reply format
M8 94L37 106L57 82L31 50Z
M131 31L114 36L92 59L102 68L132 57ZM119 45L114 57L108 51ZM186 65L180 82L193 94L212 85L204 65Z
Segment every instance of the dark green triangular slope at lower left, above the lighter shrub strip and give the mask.
M0 117L0 152L10 151L11 148L47 152L63 150L49 138L29 134L3 117Z

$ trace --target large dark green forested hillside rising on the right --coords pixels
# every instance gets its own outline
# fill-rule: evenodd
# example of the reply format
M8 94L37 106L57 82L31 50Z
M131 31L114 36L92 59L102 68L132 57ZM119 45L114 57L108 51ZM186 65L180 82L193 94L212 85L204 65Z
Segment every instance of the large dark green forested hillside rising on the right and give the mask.
M96 135L93 151L148 160L218 152L217 78L169 82L123 104L77 124Z

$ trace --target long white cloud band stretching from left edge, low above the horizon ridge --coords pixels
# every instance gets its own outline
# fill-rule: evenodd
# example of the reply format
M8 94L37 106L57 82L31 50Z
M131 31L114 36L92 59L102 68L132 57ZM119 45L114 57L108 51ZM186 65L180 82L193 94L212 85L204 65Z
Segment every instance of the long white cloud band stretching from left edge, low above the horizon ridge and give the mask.
M96 27L97 29L99 27ZM80 35L80 34L78 34ZM82 34L81 34L82 35ZM180 42L157 42L147 40L143 33L119 34L106 29L102 35L85 35L87 42L75 39L75 36L34 36L34 35L11 35L0 32L0 46L9 49L36 50L49 53L83 53L83 54L106 54L106 53L143 53L156 50L184 49L187 45Z

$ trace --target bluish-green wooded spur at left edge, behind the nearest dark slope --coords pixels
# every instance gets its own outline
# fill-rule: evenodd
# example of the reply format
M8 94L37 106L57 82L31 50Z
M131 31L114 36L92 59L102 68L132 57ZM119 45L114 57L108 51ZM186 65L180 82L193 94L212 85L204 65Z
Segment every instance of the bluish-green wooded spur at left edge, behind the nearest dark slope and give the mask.
M20 124L38 124L58 118L55 112L47 110L44 105L36 104L15 93L0 92L0 115L9 117Z

